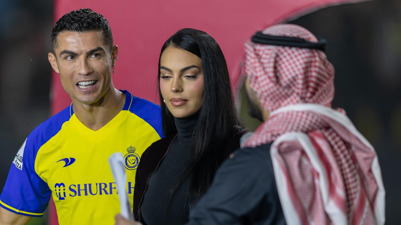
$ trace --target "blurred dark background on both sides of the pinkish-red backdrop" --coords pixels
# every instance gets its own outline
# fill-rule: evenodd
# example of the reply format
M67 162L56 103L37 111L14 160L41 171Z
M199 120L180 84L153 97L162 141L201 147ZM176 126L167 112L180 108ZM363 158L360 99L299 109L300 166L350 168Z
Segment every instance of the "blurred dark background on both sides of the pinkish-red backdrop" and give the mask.
M401 1L333 6L290 23L325 37L336 69L333 107L346 110L379 156L386 224L401 224ZM53 1L0 0L0 191L27 135L50 116ZM241 92L243 93L243 92ZM244 103L244 96L240 100ZM241 117L251 129L241 104ZM29 224L46 224L46 217Z

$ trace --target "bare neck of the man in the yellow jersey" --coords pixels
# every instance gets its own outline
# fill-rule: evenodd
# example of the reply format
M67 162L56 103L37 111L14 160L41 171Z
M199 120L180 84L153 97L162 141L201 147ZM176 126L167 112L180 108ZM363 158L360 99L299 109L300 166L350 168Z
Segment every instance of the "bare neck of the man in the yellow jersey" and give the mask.
M82 104L73 101L73 110L78 120L85 127L97 131L109 123L124 107L125 94L112 88L101 100L100 104Z

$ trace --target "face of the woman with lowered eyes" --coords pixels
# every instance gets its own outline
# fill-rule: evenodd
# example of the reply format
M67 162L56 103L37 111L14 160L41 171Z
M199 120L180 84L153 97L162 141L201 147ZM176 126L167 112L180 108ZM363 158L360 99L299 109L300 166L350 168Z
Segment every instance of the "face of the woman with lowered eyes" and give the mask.
M160 57L160 90L174 117L198 112L203 105L201 58L181 48L167 47Z

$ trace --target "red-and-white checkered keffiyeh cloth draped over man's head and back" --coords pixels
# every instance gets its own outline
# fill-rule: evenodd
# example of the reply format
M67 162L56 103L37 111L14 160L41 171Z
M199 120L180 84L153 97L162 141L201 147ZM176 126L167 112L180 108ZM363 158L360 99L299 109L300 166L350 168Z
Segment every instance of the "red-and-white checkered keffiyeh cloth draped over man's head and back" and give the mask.
M308 30L279 24L263 31L317 42ZM245 73L267 121L243 147L270 153L286 222L384 224L385 191L377 155L344 110L331 108L334 68L324 52L245 43Z

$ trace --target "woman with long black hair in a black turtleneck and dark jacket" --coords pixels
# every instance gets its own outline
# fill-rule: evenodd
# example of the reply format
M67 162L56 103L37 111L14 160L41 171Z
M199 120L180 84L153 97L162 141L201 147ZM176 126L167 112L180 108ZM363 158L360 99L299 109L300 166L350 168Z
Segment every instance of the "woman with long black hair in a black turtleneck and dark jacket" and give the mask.
M164 43L159 95L165 137L142 155L136 172L134 217L148 225L184 224L219 165L239 148L227 64L207 33L185 28Z

